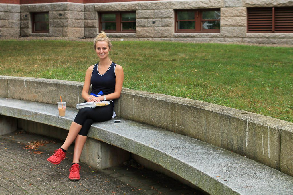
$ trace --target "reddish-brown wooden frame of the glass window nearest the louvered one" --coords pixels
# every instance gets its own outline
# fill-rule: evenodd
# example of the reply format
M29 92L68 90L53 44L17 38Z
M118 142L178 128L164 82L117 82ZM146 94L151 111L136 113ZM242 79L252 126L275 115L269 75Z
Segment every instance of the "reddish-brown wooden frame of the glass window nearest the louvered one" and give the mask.
M194 11L194 20L178 20L178 11ZM206 33L206 32L212 32L212 33L219 33L220 29L205 29L202 30L202 11L221 11L220 8L211 8L211 9L179 9L175 10L175 33ZM195 21L195 28L194 30L191 29L178 29L178 21ZM208 20L210 21L210 20ZM217 20L212 20L217 21ZM220 20L221 21L221 18Z

